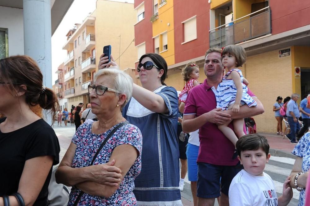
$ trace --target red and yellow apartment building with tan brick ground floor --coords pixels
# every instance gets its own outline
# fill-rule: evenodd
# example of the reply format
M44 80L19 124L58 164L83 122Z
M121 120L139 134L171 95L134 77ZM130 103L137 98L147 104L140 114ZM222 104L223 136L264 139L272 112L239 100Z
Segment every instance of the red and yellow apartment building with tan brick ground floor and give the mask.
M200 67L210 47L238 44L247 52L240 69L265 107L255 117L259 132L275 132L272 105L277 96L310 92L310 2L281 0L135 0L138 59L148 52L168 64L167 85L182 90L181 69ZM136 63L137 64L137 63Z

